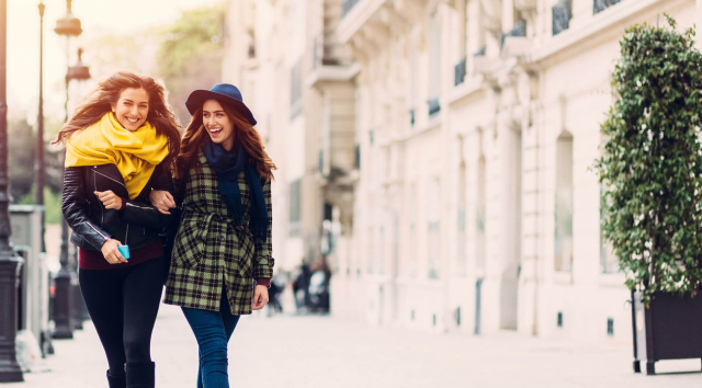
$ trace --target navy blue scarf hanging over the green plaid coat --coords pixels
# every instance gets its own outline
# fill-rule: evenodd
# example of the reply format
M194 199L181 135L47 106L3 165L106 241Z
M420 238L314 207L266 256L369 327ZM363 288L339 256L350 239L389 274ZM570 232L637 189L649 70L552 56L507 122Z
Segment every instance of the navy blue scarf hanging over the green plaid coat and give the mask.
M210 167L217 173L217 182L219 183L219 193L227 204L229 213L231 213L236 225L241 225L244 218L244 205L241 204L241 191L237 178L239 172L244 170L247 183L249 184L251 197L251 235L260 241L265 241L268 237L269 219L265 199L263 198L263 187L261 186L261 176L256 167L247 162L249 159L244 147L238 144L231 151L225 150L222 146L212 142L212 139L205 140L203 147L205 158Z

